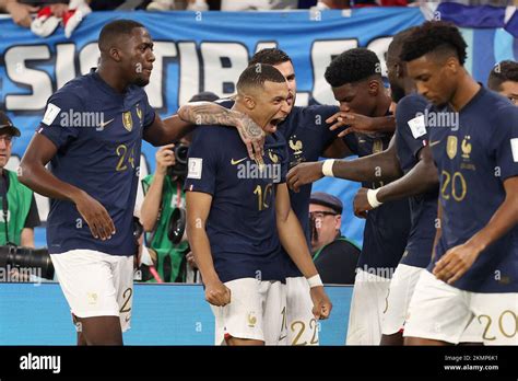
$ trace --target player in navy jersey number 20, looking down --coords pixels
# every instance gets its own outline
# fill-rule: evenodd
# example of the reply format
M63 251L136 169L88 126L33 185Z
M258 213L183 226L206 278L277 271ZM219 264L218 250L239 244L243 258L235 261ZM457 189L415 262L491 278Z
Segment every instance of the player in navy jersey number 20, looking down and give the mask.
M401 53L439 120L428 134L442 229L410 302L408 345L457 344L473 319L485 344L518 344L518 108L468 73L466 47L452 24L426 22Z

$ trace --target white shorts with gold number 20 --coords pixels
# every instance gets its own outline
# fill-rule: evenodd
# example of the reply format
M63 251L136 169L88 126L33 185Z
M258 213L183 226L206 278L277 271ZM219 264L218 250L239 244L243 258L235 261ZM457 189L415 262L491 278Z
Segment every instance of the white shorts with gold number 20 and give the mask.
M403 336L452 344L518 345L517 315L518 293L464 291L423 272L410 302Z

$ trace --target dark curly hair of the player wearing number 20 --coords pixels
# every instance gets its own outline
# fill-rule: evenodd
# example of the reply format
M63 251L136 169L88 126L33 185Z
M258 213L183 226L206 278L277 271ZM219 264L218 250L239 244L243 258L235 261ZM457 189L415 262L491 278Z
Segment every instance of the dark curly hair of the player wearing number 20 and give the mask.
M403 61L411 61L428 53L454 53L460 65L464 65L467 46L454 24L445 21L427 21L408 36L400 58Z

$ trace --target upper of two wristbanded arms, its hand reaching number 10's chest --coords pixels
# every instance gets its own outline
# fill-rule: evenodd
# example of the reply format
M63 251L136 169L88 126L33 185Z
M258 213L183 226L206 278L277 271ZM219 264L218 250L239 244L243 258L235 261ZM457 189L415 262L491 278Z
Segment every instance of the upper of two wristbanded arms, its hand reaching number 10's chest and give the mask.
M323 162L301 163L287 174L287 184L294 192L299 187L323 177ZM392 137L389 147L379 153L345 161L337 160L332 168L334 177L355 182L389 182L402 175L396 154L396 139Z

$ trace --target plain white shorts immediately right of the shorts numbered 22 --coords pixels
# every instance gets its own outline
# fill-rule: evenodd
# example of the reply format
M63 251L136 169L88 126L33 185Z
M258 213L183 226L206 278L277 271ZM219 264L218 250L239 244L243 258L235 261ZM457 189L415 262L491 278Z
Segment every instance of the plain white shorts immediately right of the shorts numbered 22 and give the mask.
M379 345L390 279L356 270L346 345Z

